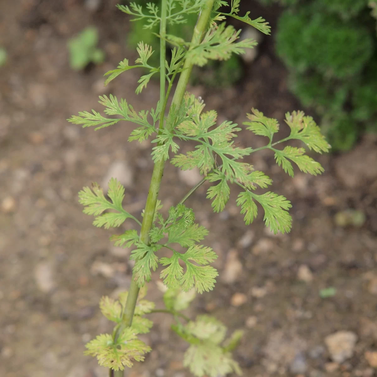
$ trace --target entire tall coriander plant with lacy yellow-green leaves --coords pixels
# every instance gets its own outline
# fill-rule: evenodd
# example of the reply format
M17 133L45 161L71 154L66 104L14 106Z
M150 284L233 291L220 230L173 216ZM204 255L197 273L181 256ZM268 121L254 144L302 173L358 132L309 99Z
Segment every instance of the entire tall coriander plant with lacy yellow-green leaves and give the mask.
M118 5L122 12L133 17L132 21L143 21L145 29L159 25L160 64L155 67L148 63L153 54L152 48L140 42L137 48L139 58L135 64L130 65L127 59L121 61L117 69L105 74L105 84L129 69L143 68L146 74L141 76L136 93L146 88L153 75L159 74L159 101L151 110L136 112L126 100L104 95L99 102L105 106L106 115L92 110L69 118L71 123L83 127L95 126L96 130L120 121L133 122L138 127L131 132L129 141L142 142L152 138L155 145L151 153L154 161L152 178L140 218L123 209L124 187L116 179L112 178L109 182L108 198L97 184L91 188L84 187L79 193L84 213L96 216L95 226L106 229L119 227L127 218L133 219L136 226L136 229L111 237L116 246L133 247L130 259L135 261L128 292L120 294L118 300L103 297L100 301L103 315L115 323L113 333L101 334L86 345L86 353L97 357L100 365L108 367L110 376L123 376L125 367L131 367L135 361L143 361L144 355L151 351L138 339L138 334L149 332L153 323L146 315L156 311L169 313L175 318L176 323L172 328L189 343L184 365L190 368L193 375L217 377L231 372L241 374L231 351L242 332L236 331L225 339L227 329L217 319L201 315L192 320L181 313L189 306L196 292L212 290L218 276L218 271L210 265L217 258L216 253L211 247L201 244L208 231L195 223L194 211L184 203L203 182L209 181L213 185L208 189L207 198L212 199L213 210L220 212L229 199L232 185L240 191L236 204L244 215L246 225L256 218L258 202L264 210L266 226L274 233L285 233L291 228L288 213L290 202L282 195L260 192L259 189L266 189L272 180L243 162L244 157L261 149L269 149L274 153L277 164L290 176L294 174L292 162L305 173L317 175L323 172L322 166L306 155L303 147L278 148L282 142L297 139L310 150L327 152L330 146L310 116L305 116L301 111L287 113L285 122L290 127L290 135L275 141L274 134L279 130L277 120L251 109L251 113L247 114L248 120L243 124L246 130L265 136L267 143L257 149L241 147L233 141L241 127L231 121L217 124L216 111L204 112L202 99L186 92L194 64L204 66L209 60L227 60L231 54L242 54L246 48L256 45L251 39L239 41L240 31L227 26L224 22L226 17L244 21L270 34L270 27L262 17L252 20L250 12L240 16L239 3L240 0L162 0L161 9L153 3L147 3L145 8L136 3ZM168 35L167 25L184 23L187 14L198 14L191 41ZM166 60L167 41L176 46L169 61ZM168 98L178 76L172 104L167 109ZM178 153L177 141L195 141L197 145L185 154ZM170 207L168 215L164 217L160 212L162 203L158 200L158 193L168 160L182 170L198 167L204 178L177 205ZM177 251L176 244L183 247L185 252ZM171 252L170 257L160 256L162 248ZM155 309L155 303L144 299L151 271L155 271L159 265L163 267L160 277L166 290L166 308L163 310Z

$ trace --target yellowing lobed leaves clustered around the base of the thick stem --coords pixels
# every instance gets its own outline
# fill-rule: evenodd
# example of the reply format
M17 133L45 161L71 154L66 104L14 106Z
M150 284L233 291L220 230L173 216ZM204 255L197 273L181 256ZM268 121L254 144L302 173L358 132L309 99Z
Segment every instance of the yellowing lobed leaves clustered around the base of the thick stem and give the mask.
M101 313L110 321L120 324L122 322L124 305L127 300L127 292L120 294L119 300L110 299L107 296L101 298ZM112 368L115 371L131 367L134 361L143 361L144 354L151 348L137 338L137 334L148 333L153 323L142 317L150 313L155 307L153 302L143 300L141 294L135 308L132 326L125 328L116 341L110 334L98 335L96 339L87 343L85 354L97 357L102 366Z

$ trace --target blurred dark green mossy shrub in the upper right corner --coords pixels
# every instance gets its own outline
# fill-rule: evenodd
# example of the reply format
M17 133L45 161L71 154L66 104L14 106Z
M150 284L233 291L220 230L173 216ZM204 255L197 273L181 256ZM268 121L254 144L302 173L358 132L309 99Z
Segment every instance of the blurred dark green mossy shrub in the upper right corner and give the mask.
M377 2L259 0L287 6L279 18L276 51L289 87L322 116L334 150L353 146L364 130L377 131Z

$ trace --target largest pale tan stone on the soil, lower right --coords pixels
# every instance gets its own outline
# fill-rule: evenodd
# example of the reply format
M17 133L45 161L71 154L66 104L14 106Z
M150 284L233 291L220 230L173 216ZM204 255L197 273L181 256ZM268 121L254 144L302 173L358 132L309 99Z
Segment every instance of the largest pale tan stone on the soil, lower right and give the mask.
M325 337L325 344L336 363L343 363L352 357L357 341L357 335L352 331L337 331Z

